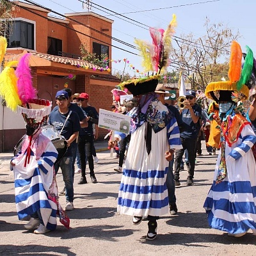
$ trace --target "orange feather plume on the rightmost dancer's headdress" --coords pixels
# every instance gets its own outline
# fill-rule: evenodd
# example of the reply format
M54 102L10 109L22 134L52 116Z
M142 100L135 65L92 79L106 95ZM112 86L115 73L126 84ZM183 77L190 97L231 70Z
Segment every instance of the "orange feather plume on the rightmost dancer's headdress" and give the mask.
M231 82L237 82L240 79L242 55L241 46L236 41L233 41L228 70L228 77Z

